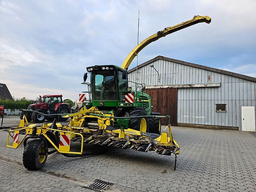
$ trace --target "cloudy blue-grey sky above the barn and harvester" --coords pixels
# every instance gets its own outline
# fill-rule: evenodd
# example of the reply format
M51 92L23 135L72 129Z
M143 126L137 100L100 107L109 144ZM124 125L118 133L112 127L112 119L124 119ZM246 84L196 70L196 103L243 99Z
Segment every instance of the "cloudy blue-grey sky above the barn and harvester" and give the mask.
M139 64L162 55L256 77L256 0L0 0L0 83L15 98L76 100L86 67L121 66L137 45L138 10L139 41L194 15L212 18L151 43Z

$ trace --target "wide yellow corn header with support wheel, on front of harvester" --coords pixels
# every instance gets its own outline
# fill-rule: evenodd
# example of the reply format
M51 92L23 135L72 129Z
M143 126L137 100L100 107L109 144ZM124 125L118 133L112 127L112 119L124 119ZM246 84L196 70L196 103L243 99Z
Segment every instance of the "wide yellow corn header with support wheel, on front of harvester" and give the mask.
M165 128L167 132L164 130L164 132L159 135L115 127L115 120L122 117L115 117L113 113L104 114L104 112L99 111L96 107L89 109L83 107L79 112L64 117L72 117L72 120L66 123L66 125L56 123L55 121L53 123L28 124L26 116L24 115L24 118L20 120L19 127L14 130L9 130L6 146L18 148L24 141L25 150L23 163L27 169L32 170L40 169L44 165L47 156L56 151L68 157L92 155L83 150L84 144L95 144L99 147L113 146L141 152L154 151L158 154L168 156L172 153L176 156L180 152L178 143L172 138L170 123ZM157 117L170 119L169 116ZM86 125L90 126L88 119L91 118L97 119L97 128L86 127ZM138 116L130 118L138 118ZM25 126L25 123L27 126ZM12 141L10 137L12 137ZM27 143L28 139L40 139L40 142L38 140L31 140ZM81 143L81 148L77 151L70 150L70 146L74 142ZM10 143L12 143L12 145L10 145ZM55 149L49 151L50 146ZM32 154L31 151L35 150L35 148L37 149L37 155L34 159L26 158L26 154ZM37 164L34 162L37 162Z

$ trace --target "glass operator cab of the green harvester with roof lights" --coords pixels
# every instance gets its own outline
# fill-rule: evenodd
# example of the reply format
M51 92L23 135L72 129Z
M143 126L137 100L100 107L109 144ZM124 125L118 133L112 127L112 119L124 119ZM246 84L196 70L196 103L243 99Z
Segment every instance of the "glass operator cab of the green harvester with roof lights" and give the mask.
M128 87L127 70L114 65L86 69L91 73L92 100L124 100L122 91Z

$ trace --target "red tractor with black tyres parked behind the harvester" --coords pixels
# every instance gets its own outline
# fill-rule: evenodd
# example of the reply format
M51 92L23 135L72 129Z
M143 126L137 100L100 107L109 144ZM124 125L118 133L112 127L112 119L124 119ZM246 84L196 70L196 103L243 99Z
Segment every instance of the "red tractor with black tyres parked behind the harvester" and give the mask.
M57 118L57 120L59 121L66 121L68 119L63 118L61 115L55 115L70 113L69 105L62 102L62 95L44 95L43 98L41 96L39 97L39 103L29 105L28 110L32 111L26 111L24 113L21 113L20 119L23 118L24 114L26 115L28 122L32 121L35 123L43 123L44 120L51 121L55 118ZM40 113L51 116L46 116L33 111L38 111Z

